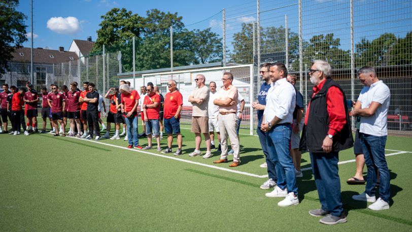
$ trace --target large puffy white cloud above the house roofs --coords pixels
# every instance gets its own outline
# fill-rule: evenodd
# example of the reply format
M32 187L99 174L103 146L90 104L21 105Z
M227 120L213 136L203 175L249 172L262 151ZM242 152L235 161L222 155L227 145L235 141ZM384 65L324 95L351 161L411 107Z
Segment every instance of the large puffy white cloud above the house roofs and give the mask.
M79 19L76 17L52 17L47 21L47 28L64 35L73 35L80 29Z

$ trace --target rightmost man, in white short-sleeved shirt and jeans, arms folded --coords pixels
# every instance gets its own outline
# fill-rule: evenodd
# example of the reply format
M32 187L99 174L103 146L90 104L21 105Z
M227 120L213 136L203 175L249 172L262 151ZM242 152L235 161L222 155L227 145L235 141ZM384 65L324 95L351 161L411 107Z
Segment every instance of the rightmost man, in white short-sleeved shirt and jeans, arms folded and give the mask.
M375 70L365 66L358 71L359 80L365 85L359 94L353 116L359 115L359 136L367 167L365 192L354 195L357 201L373 202L371 210L389 209L391 195L389 169L385 158L385 144L388 135L387 119L391 93L387 85L380 81ZM379 198L375 197L376 173L380 175Z

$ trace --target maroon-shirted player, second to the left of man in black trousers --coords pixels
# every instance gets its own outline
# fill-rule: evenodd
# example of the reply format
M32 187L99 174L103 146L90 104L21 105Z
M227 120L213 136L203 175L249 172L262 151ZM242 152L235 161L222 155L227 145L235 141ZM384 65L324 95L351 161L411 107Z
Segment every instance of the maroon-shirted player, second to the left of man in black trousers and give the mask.
M68 136L75 136L75 127L77 126L77 135L80 137L80 92L77 90L77 83L70 83L71 91L66 92L66 104L67 104L67 118L70 119L70 134Z

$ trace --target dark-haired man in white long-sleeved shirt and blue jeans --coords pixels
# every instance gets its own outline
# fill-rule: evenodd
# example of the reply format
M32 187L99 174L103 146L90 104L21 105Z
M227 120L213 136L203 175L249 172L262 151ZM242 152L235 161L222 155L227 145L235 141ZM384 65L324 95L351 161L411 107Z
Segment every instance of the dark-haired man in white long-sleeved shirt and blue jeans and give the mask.
M288 70L283 63L272 63L269 69L272 83L266 96L260 128L266 133L267 150L276 167L277 186L266 193L267 197L285 197L278 206L299 204L295 166L290 156L289 143L292 134L291 123L296 104L296 92L286 77Z

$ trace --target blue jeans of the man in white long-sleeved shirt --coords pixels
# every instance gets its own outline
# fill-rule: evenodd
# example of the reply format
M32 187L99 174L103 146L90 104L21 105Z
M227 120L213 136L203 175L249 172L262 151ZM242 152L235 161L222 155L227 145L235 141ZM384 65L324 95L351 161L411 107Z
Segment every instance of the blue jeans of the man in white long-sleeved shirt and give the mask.
M289 143L292 128L289 125L274 125L266 134L267 151L274 163L278 186L288 188L289 192L297 195L295 166L290 156Z

